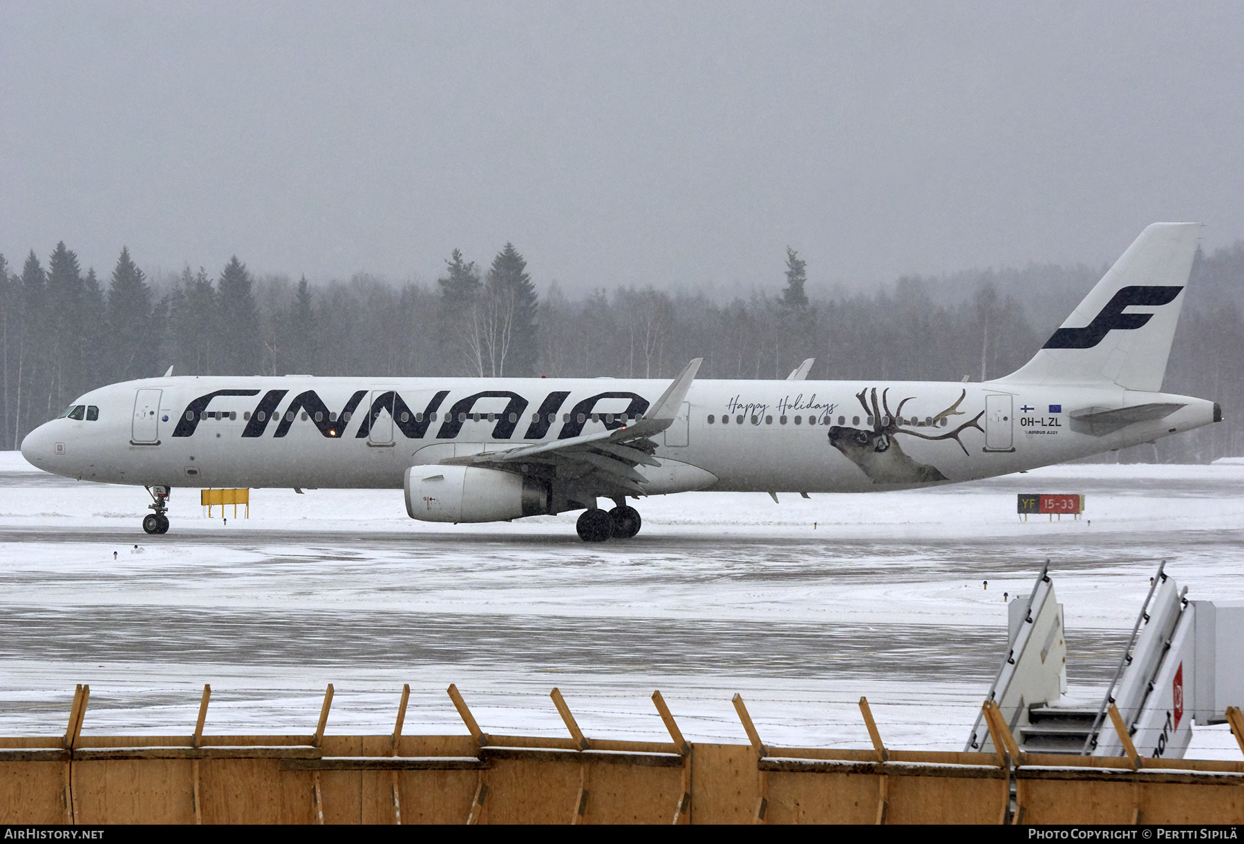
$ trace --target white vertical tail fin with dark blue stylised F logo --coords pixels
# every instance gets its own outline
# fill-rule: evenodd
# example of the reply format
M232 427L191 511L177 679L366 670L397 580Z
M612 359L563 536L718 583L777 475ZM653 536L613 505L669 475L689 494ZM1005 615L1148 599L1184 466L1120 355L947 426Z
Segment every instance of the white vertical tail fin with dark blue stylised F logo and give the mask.
M1199 222L1146 227L1045 347L999 380L1159 392L1199 231Z

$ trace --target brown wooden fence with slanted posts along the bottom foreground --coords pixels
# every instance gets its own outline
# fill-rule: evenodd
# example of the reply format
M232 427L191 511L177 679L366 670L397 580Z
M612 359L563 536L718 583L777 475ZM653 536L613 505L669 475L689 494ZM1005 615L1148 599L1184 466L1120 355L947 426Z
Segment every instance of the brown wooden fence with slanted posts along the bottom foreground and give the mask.
M0 738L0 823L1244 823L1244 762L1024 755L991 705L999 753L897 751L867 701L871 750L484 733L454 686L460 736L82 736L90 687L56 738ZM1244 752L1244 720L1228 712ZM1130 745L1130 742L1128 742Z

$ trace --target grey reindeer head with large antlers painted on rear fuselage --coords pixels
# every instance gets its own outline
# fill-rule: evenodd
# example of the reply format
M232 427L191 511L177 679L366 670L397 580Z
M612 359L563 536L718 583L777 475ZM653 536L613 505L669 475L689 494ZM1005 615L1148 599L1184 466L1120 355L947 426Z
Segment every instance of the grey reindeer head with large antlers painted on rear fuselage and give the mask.
M870 397L872 399L871 409L868 408L868 403L865 401L865 394L867 393L868 390L865 388L856 394L856 398L860 399L865 415L868 416L868 421L872 424L872 430L833 425L830 428L830 445L858 466L865 475L872 479L873 484L928 484L949 480L935 466L917 462L909 455L904 454L898 440L894 439L897 434L907 434L922 440L954 440L963 449L963 452L968 454L968 446L963 444L959 435L969 428L975 428L982 434L985 433L979 424L980 418L985 415L984 410L953 431L945 431L937 436L907 430L908 428L938 428L945 425L950 416L965 415L963 410L959 410L959 405L963 403L964 397L967 397L968 390L963 390L959 394L959 399L949 408L924 420L918 420L914 416L911 419L903 418L903 405L916 397L903 399L898 403L898 409L891 413L889 403L887 401L888 388L881 394L880 406L877 405L877 388L872 388L872 395Z

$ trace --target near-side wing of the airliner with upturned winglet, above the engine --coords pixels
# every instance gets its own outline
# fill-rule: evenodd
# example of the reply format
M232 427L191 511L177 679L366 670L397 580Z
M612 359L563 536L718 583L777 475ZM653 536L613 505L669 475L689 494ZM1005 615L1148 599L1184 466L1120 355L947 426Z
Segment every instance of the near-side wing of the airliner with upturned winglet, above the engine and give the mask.
M675 378L642 419L611 431L583 434L565 440L520 445L503 451L447 457L442 464L509 469L515 464L551 465L560 479L597 495L644 495L644 476L636 466L659 466L651 438L674 423L703 358L695 358Z

